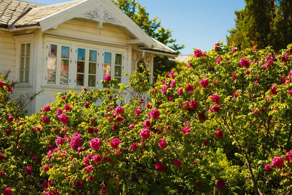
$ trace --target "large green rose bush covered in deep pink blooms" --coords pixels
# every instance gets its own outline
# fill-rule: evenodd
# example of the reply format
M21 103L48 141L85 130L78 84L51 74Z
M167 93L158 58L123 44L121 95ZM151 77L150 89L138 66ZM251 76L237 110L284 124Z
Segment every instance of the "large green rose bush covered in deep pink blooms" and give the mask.
M152 89L145 70L31 117L2 110L2 193L291 194L292 45L194 51Z

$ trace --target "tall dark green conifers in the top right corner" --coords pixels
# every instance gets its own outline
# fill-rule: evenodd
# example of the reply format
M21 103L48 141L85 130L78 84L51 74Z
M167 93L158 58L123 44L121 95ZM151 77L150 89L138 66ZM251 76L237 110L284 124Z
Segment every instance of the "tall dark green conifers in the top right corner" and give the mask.
M235 28L227 41L257 49L273 46L276 51L292 42L291 0L245 0L245 8L235 11Z

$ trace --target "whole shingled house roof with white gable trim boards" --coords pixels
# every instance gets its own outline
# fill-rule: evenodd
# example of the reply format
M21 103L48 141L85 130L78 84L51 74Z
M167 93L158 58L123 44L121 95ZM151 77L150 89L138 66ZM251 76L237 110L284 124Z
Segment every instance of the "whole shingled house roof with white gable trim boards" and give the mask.
M42 31L46 31L73 18L123 26L136 38L135 40L143 44L142 50L176 56L176 51L147 35L111 0L74 0L54 5L0 0L0 28L20 30L24 27L38 26Z

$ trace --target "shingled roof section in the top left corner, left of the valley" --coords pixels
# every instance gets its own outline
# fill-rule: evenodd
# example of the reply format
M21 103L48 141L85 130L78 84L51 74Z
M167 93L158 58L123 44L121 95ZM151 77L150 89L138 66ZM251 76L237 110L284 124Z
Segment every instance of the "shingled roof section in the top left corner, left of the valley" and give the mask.
M0 27L7 28L32 8L41 6L44 5L20 0L0 0Z

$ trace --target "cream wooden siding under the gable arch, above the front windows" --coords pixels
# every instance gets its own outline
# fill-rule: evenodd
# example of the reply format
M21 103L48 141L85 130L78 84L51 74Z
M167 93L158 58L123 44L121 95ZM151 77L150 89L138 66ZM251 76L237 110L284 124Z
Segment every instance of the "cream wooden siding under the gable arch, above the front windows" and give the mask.
M124 45L126 45L127 39L130 39L130 35L127 35L118 26L103 23L100 34L98 26L98 22L95 21L72 19L59 24L56 30L46 32L60 36Z

